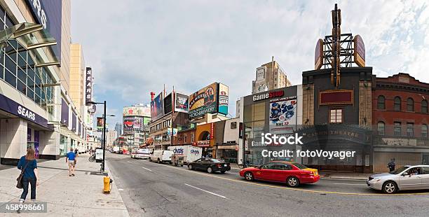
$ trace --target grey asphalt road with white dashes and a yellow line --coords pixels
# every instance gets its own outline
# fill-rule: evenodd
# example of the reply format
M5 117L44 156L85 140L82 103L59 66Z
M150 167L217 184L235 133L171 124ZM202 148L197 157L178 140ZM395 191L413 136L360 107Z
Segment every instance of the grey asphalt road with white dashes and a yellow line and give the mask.
M130 216L428 216L429 190L383 195L365 181L321 179L287 188L226 174L189 171L129 155L107 164Z

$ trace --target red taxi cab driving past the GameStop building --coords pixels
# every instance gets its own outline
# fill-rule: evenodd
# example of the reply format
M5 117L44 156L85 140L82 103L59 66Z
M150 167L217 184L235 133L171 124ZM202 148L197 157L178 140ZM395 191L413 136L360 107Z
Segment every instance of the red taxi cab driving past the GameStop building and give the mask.
M240 176L247 181L254 179L286 183L290 187L315 183L320 176L317 169L311 169L297 162L272 161L259 167L247 167L240 170Z

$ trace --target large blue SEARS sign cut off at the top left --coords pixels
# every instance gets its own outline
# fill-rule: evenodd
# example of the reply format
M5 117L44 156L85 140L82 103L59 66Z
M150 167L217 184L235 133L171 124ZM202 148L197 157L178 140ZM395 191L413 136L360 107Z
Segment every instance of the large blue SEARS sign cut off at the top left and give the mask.
M36 22L41 24L43 29L57 41L57 45L52 45L50 48L61 62L62 1L27 0L27 6L32 10Z

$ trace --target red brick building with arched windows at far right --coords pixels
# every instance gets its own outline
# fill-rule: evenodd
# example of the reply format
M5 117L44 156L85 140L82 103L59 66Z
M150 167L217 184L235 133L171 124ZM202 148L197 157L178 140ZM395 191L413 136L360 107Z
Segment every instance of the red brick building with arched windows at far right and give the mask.
M372 79L374 172L397 165L429 163L429 83L407 73Z

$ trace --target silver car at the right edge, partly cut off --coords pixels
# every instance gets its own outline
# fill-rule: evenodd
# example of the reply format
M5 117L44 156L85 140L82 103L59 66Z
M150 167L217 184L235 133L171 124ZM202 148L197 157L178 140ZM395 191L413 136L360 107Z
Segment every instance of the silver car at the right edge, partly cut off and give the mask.
M399 190L429 189L429 165L404 166L386 174L374 174L367 180L369 188L392 194Z

